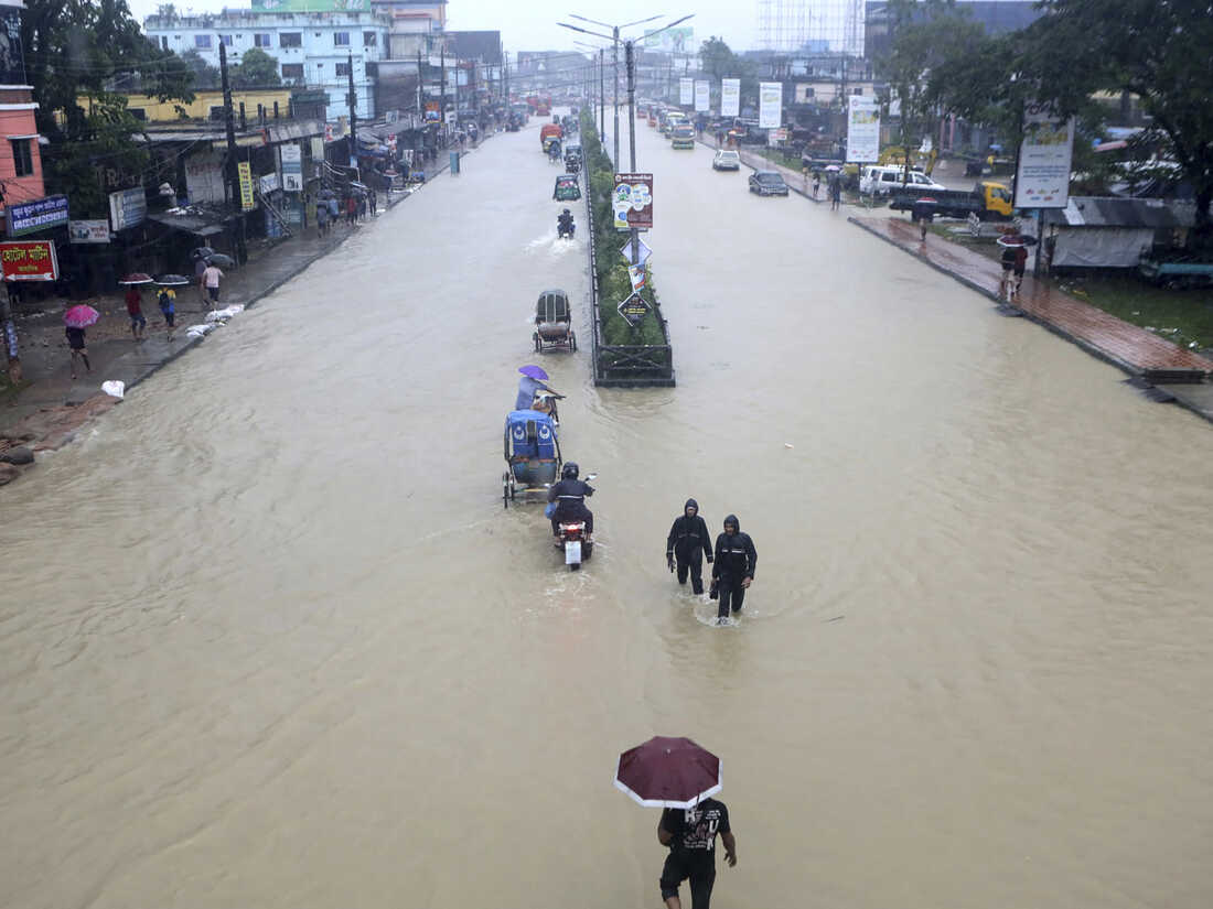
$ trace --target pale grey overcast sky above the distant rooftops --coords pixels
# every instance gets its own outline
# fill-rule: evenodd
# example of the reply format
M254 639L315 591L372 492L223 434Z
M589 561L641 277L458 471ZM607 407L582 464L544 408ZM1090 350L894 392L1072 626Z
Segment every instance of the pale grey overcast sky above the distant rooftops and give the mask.
M160 0L130 0L131 11L135 17L143 22L143 17L154 13ZM247 2L227 2L222 0L177 0L178 12L192 10L200 12L218 12L224 6L237 8L247 7ZM565 18L568 13L580 13L591 19L600 19L622 24L634 19L648 18L656 13L666 13L665 18L653 23L626 29L625 35L643 34L645 28L654 28L672 22L673 19L695 13L688 25L695 29L695 46L710 35L718 35L728 41L734 50L746 50L754 42L757 33L758 4L757 0L710 0L707 4L695 5L684 0L668 0L664 5L654 4L653 0L613 0L606 4L603 0L570 0L568 6L563 4L551 4L545 0L516 0L503 2L502 0L450 0L446 6L446 27L450 29L497 29L501 32L501 40L506 50L511 53L516 51L545 51L545 50L579 50L573 41L582 38L568 29L557 27L557 21L570 22L586 28L596 28L576 19ZM587 41L593 39L585 36Z

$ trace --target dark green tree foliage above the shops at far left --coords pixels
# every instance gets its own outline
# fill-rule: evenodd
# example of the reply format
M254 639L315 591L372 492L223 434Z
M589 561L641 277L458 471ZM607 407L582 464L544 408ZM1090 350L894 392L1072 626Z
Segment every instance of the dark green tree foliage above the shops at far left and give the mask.
M70 193L81 217L103 215L106 193L137 185L149 165L133 139L139 121L115 88L188 102L193 73L144 38L126 0L27 0L21 39L38 130L50 141L47 191Z

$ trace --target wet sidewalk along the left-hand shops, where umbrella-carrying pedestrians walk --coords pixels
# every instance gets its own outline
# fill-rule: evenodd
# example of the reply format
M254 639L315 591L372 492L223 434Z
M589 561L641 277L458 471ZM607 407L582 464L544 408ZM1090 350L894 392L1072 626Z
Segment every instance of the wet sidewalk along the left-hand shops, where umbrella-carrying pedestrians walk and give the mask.
M486 136L485 139L489 137ZM480 145L484 144L482 141ZM467 153L465 153L467 154ZM426 171L426 183L449 168L449 155L439 153L438 160ZM380 213L399 205L414 190L392 193ZM222 297L215 308L243 304L252 307L262 297L295 278L317 259L340 247L358 230L374 224L369 218L355 227L332 225L329 236L318 238L315 227L296 233L273 246L264 247L239 269L224 276ZM131 337L130 319L121 295L90 301L101 319L89 328L87 348L92 372L82 366L79 379L73 382L67 338L63 335L63 301L38 313L18 314L17 336L21 339L21 362L25 385L10 400L0 404L0 461L12 448L34 452L57 448L74 436L79 427L118 404L118 399L101 391L103 381L118 379L126 389L137 385L165 364L203 343L203 337L189 337L186 328L204 320L212 309L204 303L197 286L178 288L176 330L173 339L166 337L166 326L155 302L154 288L143 293L143 315L148 320L144 341ZM0 485L12 479L7 465L0 463Z

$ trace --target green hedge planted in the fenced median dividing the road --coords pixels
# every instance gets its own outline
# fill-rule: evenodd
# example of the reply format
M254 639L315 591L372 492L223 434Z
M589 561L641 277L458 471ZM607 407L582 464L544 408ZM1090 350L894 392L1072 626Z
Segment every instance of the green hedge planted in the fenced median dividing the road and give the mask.
M581 149L585 156L586 185L590 190L590 204L594 212L594 261L598 263L599 311L603 320L603 342L606 344L665 344L657 319L657 298L653 288L653 271L649 270L648 282L640 296L653 308L634 328L627 324L615 307L632 292L632 281L627 275L627 263L620 256L619 248L626 242L627 234L616 230L610 198L615 189L615 167L603 152L594 128L593 116L581 113Z

